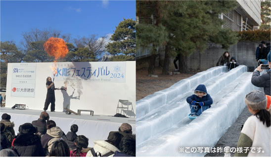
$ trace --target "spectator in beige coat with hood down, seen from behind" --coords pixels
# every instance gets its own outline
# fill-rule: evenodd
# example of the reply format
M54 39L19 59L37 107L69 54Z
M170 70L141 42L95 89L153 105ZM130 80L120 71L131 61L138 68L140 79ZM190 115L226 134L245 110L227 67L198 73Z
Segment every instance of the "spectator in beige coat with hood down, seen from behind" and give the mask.
M46 156L48 156L53 142L62 138L67 143L67 137L60 127L56 127L55 122L52 120L47 122L46 129L47 131L43 135L41 141L43 148L45 149Z

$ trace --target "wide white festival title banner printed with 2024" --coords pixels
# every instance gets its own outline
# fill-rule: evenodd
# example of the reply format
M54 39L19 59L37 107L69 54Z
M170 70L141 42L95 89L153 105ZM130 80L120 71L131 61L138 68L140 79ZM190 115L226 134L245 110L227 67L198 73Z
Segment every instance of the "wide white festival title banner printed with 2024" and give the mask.
M126 62L56 63L54 81L125 83L125 72Z

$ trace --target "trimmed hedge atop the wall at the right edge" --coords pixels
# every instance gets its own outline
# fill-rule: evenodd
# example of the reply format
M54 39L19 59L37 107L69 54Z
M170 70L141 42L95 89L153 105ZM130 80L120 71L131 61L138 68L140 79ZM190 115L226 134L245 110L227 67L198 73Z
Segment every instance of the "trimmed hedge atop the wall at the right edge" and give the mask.
M238 32L239 41L270 41L271 30L254 30Z

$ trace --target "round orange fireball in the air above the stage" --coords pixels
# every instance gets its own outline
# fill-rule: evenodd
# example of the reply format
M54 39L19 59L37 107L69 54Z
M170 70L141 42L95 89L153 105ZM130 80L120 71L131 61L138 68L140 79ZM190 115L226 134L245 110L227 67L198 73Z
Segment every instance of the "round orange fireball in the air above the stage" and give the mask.
M66 42L63 39L57 37L50 37L45 42L44 49L48 55L54 57L55 62L59 58L63 59L69 52Z

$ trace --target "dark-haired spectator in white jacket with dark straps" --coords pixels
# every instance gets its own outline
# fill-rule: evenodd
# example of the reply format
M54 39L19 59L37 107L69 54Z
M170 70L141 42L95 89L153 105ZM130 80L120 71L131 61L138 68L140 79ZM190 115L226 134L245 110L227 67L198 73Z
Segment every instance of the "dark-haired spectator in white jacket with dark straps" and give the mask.
M107 140L96 140L94 141L94 146L92 150L87 153L86 157L95 157L95 156L106 156L113 157L115 152L121 152L119 150L119 144L121 142L121 139L123 138L123 135L119 132L115 132L111 134Z

